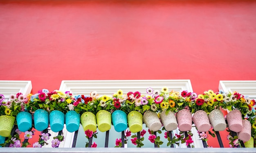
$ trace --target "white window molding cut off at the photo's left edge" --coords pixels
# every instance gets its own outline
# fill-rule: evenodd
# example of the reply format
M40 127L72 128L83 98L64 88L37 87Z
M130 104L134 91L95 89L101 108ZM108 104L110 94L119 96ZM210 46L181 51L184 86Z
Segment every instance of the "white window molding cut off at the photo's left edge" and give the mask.
M10 94L21 92L22 94L29 94L32 90L31 81L5 81L0 80L0 94L9 97Z

